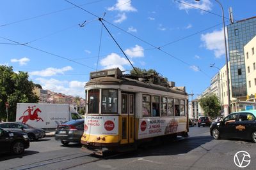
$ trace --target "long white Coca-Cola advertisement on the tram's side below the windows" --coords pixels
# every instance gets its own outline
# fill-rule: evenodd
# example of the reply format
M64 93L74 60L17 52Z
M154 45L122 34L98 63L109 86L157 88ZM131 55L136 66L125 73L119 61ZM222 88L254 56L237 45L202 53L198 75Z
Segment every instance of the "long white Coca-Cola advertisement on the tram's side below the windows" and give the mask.
M186 118L140 119L138 138L148 138L186 131Z

